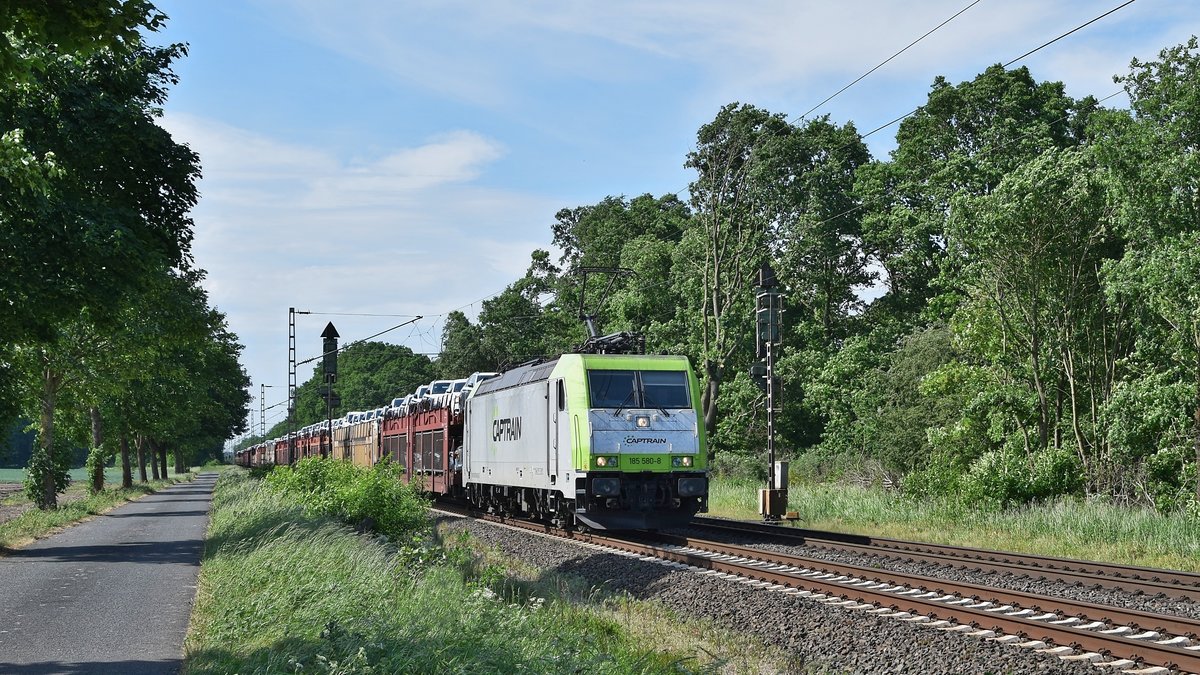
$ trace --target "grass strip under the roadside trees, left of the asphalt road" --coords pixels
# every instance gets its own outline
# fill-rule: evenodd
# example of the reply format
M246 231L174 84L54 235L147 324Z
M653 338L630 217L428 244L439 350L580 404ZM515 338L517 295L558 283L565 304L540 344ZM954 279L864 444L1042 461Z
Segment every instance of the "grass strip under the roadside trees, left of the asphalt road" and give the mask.
M108 488L95 495L88 494L88 486L84 483L73 482L66 492L59 495L59 508L54 510L30 508L16 518L0 522L0 555L6 550L24 546L35 539L46 537L88 516L98 515L125 502L144 497L175 483L191 480L194 477L194 473L186 473L167 480L134 483L133 488L127 490ZM24 503L29 503L29 498L23 492L18 492L8 496L4 506L11 507Z

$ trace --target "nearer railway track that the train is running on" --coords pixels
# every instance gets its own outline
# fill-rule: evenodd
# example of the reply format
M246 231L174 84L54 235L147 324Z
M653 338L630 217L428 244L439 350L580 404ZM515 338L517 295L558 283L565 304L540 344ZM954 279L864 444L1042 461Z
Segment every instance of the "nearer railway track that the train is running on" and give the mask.
M442 508L442 507L439 507ZM932 629L1012 643L1110 671L1200 673L1200 621L780 554L672 534L563 532L499 516L506 526L572 539L701 574L806 597ZM1099 670L1098 670L1099 671Z

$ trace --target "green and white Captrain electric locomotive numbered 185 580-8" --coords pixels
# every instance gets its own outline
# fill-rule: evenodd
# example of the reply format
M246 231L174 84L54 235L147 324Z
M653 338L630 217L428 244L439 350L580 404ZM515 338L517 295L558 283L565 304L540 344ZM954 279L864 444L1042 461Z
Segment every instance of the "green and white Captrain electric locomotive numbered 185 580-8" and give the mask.
M497 513L658 528L708 509L700 387L685 357L578 353L481 383L462 485Z

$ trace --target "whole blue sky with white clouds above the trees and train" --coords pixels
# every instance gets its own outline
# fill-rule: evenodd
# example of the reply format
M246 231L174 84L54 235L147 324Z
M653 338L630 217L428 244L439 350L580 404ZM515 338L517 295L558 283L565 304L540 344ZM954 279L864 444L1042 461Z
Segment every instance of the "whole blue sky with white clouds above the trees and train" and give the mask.
M922 104L935 76L970 79L1121 1L982 0L814 114L865 132ZM152 40L191 49L162 124L204 166L193 252L253 394L278 387L270 405L289 306L338 313L300 317L300 359L326 321L343 342L404 321L342 313L422 315L382 339L436 353L440 318L517 279L558 209L683 192L721 106L794 121L970 0L157 5L169 22ZM1130 59L1195 32L1200 2L1139 0L1019 65L1108 96ZM877 157L894 133L869 139Z

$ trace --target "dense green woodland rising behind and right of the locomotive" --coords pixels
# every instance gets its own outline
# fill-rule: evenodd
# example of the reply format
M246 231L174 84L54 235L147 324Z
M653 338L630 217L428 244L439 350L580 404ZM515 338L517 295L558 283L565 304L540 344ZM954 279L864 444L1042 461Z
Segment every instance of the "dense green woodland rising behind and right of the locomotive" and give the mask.
M1022 503L1196 507L1200 53L1116 79L1129 109L1027 68L936 78L888 157L852 123L724 107L686 196L560 210L556 258L445 323L437 369L497 370L583 341L600 311L697 365L718 467L764 472L755 274L785 291L780 444L808 474Z

